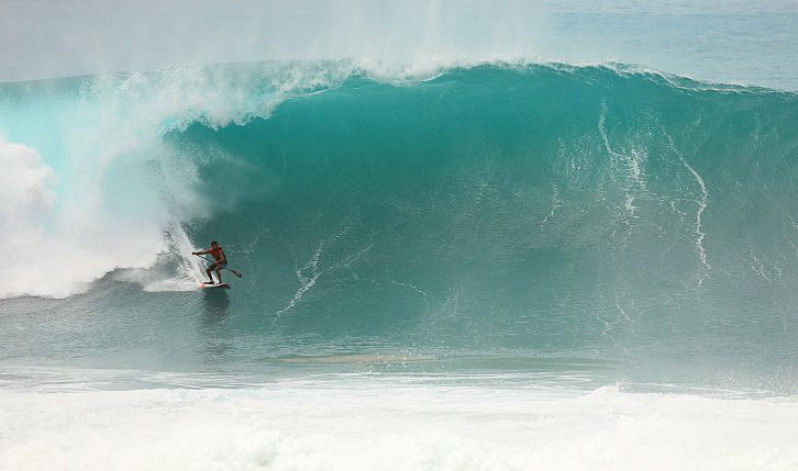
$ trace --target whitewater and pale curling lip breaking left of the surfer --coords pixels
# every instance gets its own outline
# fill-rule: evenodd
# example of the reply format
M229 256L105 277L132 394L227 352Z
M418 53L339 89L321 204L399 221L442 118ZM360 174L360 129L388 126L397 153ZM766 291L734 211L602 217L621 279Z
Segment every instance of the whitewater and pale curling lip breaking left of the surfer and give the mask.
M190 254L180 223L213 208L197 190L197 166L219 158L218 150L176 153L164 135L192 122L220 127L266 117L354 70L350 63L282 63L104 75L81 79L78 97L25 110L42 112L38 125L58 133L23 143L0 136L0 227L9 248L0 298L68 296L118 268L140 270L124 277L154 291L196 287L186 262L176 273L141 271L165 254Z

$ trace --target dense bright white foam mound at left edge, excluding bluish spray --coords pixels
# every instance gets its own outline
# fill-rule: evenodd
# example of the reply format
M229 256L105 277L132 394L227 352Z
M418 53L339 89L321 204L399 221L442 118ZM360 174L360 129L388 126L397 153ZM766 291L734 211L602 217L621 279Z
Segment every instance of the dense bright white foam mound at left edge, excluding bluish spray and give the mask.
M134 237L126 224L93 217L93 201L67 202L57 212L57 176L33 148L0 137L0 296L64 296L117 266L151 265L160 251L159 236L149 237L155 227L142 223Z

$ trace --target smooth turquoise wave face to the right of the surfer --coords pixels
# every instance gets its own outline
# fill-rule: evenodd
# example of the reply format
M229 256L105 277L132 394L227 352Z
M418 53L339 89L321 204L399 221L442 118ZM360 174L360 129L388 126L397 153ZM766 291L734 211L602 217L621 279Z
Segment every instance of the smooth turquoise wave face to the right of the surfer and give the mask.
M554 350L796 338L793 93L483 66L354 76L164 138L200 161L214 210L191 238L223 240L246 310L289 333Z

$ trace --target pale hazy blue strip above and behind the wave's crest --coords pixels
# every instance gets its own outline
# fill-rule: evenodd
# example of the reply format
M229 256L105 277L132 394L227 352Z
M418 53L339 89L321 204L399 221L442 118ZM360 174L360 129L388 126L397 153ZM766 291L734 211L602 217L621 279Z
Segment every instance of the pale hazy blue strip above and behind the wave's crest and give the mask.
M623 61L798 89L798 0L0 0L0 81L352 58Z

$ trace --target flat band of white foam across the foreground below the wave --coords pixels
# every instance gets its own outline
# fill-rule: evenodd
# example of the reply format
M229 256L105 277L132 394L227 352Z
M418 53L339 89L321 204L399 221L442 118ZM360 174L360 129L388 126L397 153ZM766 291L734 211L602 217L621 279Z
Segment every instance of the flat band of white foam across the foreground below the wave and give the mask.
M798 403L386 381L0 392L8 470L794 470Z

